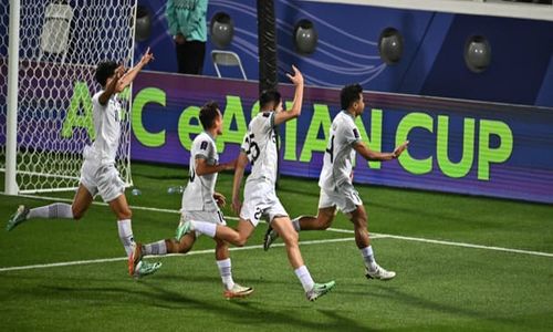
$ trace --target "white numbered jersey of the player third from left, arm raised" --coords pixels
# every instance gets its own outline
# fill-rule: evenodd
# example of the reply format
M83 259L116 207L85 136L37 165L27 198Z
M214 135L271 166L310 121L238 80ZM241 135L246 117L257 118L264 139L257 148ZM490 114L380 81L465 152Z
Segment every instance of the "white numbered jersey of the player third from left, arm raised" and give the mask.
M251 163L246 183L265 180L274 186L278 163L274 112L259 113L250 121L241 148Z

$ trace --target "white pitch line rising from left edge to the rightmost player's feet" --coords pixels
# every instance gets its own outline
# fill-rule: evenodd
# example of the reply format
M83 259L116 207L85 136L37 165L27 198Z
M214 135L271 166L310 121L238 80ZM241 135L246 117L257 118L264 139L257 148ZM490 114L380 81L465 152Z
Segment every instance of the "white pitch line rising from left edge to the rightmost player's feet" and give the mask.
M377 238L377 237L374 237L374 238ZM300 246L331 243L331 242L345 242L345 241L352 241L353 239L354 238L338 238L338 239L300 241ZM272 247L284 247L284 243L274 243ZM254 245L254 246L247 246L247 247L233 247L233 248L229 248L229 250L240 251L240 250L252 250L252 249L262 249L262 248L263 248L263 246L261 246L261 245ZM204 255L204 253L213 253L213 252L215 252L215 249L206 249L206 250L190 251L187 253L168 253L165 256L147 256L147 257L179 257L179 256ZM127 258L126 257L114 257L114 258L102 258L102 259L91 259L91 260L75 260L75 261L55 262L55 263L46 263L46 264L8 267L8 268L0 268L0 272L60 268L60 267L71 267L71 266L84 266L84 264L94 264L94 263L123 261L123 260L127 260Z

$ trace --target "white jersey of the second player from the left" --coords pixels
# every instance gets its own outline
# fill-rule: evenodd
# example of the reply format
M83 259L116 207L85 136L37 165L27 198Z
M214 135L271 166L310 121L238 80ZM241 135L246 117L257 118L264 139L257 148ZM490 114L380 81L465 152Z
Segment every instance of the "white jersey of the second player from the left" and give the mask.
M196 174L196 159L205 159L208 165L219 163L219 154L213 138L206 132L196 136L190 151L189 180L182 194L182 211L217 211L213 198L217 173L199 176Z

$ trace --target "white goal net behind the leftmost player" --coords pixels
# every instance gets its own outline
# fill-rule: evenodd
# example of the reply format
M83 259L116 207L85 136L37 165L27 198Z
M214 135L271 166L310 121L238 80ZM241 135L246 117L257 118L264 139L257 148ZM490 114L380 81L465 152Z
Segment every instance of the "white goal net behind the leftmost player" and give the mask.
M95 137L96 64L133 64L136 0L20 0L19 59L8 59L10 3L0 3L0 169L6 174L9 61L17 61L18 190L69 190L79 185L82 151ZM129 89L119 98L117 168L131 185Z

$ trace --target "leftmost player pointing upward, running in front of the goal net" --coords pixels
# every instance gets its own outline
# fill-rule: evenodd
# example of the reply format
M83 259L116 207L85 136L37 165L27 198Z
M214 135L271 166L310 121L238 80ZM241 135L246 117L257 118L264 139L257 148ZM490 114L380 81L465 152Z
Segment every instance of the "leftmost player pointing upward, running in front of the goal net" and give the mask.
M159 269L160 263L133 260L132 253L136 243L131 226L132 211L125 197L125 184L115 167L115 155L121 136L121 103L117 94L127 87L152 60L154 60L154 54L148 48L140 62L128 71L115 62L102 62L97 65L94 76L102 85L102 90L92 97L92 117L96 138L92 146L84 147L84 163L73 204L54 203L31 209L21 205L10 217L6 226L7 230L12 230L18 225L34 218L79 220L91 206L94 196L100 194L117 217L119 239L128 257L129 274L143 277Z

